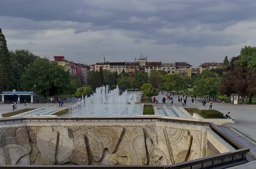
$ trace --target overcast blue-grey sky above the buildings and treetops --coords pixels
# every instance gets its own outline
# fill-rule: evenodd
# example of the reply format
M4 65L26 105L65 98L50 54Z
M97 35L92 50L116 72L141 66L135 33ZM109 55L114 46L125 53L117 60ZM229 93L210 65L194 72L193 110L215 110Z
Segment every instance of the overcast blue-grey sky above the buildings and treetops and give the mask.
M256 0L0 0L10 50L103 61L223 62L256 46Z

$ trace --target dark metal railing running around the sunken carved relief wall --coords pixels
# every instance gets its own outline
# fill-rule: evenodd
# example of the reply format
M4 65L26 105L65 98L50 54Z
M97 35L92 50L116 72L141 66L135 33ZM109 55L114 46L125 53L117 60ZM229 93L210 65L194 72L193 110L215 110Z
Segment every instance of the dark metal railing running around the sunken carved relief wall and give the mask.
M246 146L242 143L228 135L226 132L222 131L221 128L209 122L202 121L194 121L194 120L180 120L177 118L169 118L169 117L160 117L160 116L146 116L146 117L9 117L9 118L1 118L0 124L5 123L23 123L23 122L35 122L35 121L44 121L44 122L52 122L52 121L77 121L77 122L88 122L88 121L100 121L108 123L108 121L161 121L167 123L181 123L181 124L190 124L190 125L201 125L201 126L209 126L212 131L214 131L217 135L219 135L222 139L224 139L227 143L233 146L236 149L236 152L226 152L218 155L213 155L205 158L200 158L196 160L186 161L183 163L177 163L169 166L0 166L1 169L7 168L19 168L19 169L34 169L38 167L62 167L62 168L70 168L84 167L86 169L102 169L102 168L121 168L121 169L213 169L213 168L228 168L231 166L237 166L243 163L246 163L246 154L250 151Z

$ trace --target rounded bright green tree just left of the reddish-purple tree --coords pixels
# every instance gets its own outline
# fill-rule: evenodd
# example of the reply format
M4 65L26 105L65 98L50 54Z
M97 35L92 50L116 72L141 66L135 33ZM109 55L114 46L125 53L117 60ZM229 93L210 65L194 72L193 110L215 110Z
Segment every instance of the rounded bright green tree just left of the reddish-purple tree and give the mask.
M220 92L221 78L217 73L205 69L201 74L198 74L194 84L197 95L214 96L216 99Z

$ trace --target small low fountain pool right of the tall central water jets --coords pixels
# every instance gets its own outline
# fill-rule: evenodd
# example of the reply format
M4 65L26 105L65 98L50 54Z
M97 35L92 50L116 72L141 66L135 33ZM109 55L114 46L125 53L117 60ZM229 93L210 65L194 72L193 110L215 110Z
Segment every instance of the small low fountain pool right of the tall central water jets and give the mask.
M163 105L163 109L157 109L157 111L161 116L188 118L180 109L177 109L175 106L172 106L172 109L167 109L166 106Z

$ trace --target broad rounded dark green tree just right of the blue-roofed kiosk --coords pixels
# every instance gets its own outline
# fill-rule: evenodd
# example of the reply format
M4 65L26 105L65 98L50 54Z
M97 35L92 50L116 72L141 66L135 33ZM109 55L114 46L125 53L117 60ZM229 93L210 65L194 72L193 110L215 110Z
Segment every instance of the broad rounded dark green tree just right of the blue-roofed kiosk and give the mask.
M21 87L30 91L34 89L35 84L37 94L46 96L47 91L49 96L56 96L68 91L69 79L70 74L64 70L63 66L38 58L28 68L25 68L21 76Z

